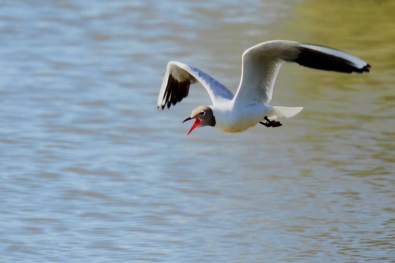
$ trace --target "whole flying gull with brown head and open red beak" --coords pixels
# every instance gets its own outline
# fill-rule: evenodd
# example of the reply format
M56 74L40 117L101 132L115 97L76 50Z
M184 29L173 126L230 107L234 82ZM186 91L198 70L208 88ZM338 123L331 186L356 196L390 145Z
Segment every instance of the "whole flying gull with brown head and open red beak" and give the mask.
M205 72L184 63L170 61L158 96L158 108L170 108L188 96L190 84L200 82L212 105L199 106L184 122L194 119L193 129L213 126L223 132L238 133L257 125L279 127L275 119L290 118L302 107L270 105L273 86L282 62L345 73L369 72L370 65L346 52L295 41L274 40L260 43L242 55L241 81L236 95Z

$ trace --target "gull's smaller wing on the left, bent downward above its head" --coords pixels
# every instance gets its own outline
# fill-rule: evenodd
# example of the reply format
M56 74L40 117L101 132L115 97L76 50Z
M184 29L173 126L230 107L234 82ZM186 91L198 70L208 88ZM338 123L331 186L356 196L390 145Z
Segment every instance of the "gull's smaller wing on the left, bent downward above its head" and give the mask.
M184 63L170 61L159 91L158 108L168 108L188 96L189 86L200 82L210 95L213 104L221 99L233 99L233 93L203 71Z

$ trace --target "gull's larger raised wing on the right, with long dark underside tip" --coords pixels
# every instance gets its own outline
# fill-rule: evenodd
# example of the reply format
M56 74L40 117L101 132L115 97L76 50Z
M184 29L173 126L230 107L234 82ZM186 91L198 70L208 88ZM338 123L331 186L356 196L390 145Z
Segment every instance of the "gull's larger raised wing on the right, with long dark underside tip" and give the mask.
M243 53L242 76L235 103L269 103L283 61L347 73L370 70L365 61L337 49L285 40L263 42Z

